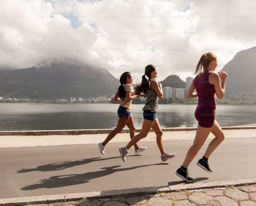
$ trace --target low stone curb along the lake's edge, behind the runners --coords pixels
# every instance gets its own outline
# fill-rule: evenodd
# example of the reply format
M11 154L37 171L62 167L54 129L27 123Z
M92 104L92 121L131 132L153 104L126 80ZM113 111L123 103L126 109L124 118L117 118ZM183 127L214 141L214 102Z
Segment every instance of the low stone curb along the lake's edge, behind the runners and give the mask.
M222 130L244 130L244 129L256 129L256 126L230 126L221 127ZM196 130L196 127L173 127L173 128L161 128L163 132L173 131L192 131ZM113 129L94 129L94 130L39 130L39 131L0 131L0 136L10 135L81 135L81 134L108 134ZM129 129L124 129L120 133L129 133ZM141 129L136 129L135 132L141 132ZM150 130L153 132L153 129Z

